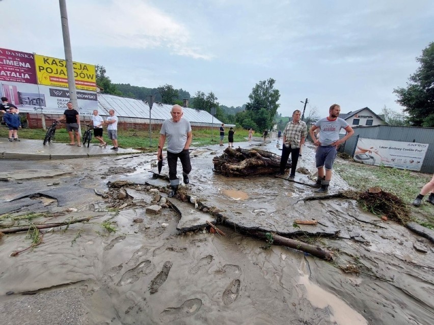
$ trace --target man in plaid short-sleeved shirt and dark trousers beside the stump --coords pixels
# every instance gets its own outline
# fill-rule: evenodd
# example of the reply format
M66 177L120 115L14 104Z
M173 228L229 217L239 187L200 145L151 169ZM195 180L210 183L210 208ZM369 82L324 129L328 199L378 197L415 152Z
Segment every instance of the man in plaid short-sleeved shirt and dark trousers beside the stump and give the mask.
M294 110L292 113L292 121L289 122L283 131L283 147L282 157L280 158L280 171L279 175L285 174L285 166L288 161L289 154L291 154L291 173L289 179L293 180L295 176L295 169L297 168L297 161L299 160L300 147L305 143L307 136L306 123L300 121L302 112Z

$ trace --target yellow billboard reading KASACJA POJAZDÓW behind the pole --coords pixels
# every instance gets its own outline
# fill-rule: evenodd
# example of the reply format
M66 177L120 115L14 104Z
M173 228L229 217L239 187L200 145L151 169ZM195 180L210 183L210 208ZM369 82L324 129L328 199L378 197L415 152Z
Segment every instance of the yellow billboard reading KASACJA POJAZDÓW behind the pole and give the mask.
M96 91L95 66L73 62L75 87ZM60 58L35 54L36 76L39 84L56 87L68 87L66 61Z

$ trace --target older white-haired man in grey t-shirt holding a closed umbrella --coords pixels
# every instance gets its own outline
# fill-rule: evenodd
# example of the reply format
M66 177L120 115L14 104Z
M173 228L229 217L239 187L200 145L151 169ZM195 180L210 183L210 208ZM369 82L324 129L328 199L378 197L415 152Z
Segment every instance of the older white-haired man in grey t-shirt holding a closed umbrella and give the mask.
M167 138L167 163L169 165L169 180L172 191L169 197L176 194L179 186L179 179L176 176L176 165L178 158L182 165L182 178L185 184L189 183L188 174L192 170L190 163L190 153L188 148L192 143L193 133L190 122L182 117L182 107L173 105L171 110L172 119L163 122L158 141L158 160L162 159L162 147Z

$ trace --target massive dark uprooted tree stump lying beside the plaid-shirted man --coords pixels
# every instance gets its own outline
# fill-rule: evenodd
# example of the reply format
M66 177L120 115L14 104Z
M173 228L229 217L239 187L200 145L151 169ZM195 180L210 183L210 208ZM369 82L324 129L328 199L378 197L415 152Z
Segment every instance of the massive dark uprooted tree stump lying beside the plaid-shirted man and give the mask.
M272 152L254 149L226 148L223 155L212 159L214 172L226 176L257 176L279 172L280 156ZM291 168L286 163L285 169Z

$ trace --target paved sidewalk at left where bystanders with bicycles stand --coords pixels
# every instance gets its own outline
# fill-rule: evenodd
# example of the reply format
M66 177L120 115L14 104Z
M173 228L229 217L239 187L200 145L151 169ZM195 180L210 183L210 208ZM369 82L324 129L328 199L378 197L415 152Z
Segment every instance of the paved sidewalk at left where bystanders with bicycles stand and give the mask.
M108 142L106 147L99 147L97 143L91 143L87 147L67 145L61 142L49 142L44 145L42 140L31 139L11 142L7 138L0 138L0 157L4 159L46 160L140 153L140 151L131 148L119 148L119 151L114 151L110 150L111 147L112 145Z

